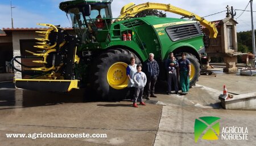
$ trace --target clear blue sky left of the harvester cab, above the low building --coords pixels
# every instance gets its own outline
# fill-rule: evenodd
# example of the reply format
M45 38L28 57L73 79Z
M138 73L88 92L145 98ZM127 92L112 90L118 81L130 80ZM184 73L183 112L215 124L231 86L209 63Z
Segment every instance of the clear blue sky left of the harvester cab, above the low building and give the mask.
M20 1L12 0L14 27L39 27L36 23L61 24L63 27L70 27L65 12L59 9L61 1ZM0 28L11 27L10 0L0 0Z

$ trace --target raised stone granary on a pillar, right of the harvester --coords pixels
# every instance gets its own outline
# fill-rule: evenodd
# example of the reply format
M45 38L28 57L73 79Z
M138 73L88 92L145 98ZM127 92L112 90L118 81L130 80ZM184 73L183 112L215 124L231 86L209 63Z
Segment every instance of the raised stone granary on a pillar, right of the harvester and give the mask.
M209 46L206 51L208 58L210 57L222 57L226 63L224 72L237 71L237 55L243 53L237 52L237 26L238 24L230 16L222 20L214 21L216 24L218 35L217 38L211 38ZM203 27L203 31L206 35L209 34L207 28Z

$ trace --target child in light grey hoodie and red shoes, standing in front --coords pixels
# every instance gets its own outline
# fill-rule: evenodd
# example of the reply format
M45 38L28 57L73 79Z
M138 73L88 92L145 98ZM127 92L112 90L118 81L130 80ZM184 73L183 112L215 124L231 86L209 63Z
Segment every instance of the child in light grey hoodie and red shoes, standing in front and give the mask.
M133 76L133 81L135 83L135 93L133 100L133 107L138 108L136 104L137 100L140 105L146 105L142 100L143 89L147 83L147 77L144 72L141 71L141 65L137 65L137 72Z

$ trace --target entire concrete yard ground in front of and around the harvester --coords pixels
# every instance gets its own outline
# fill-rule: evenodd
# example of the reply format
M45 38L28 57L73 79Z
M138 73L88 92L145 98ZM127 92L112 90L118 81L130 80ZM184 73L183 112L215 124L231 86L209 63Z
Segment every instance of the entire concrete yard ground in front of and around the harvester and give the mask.
M214 69L216 70L216 69ZM200 76L188 95L164 95L156 105L131 107L131 102L83 102L83 92L44 93L3 88L0 83L1 145L254 145L256 111L224 110L218 95L255 92L255 76ZM246 82L246 83L245 83ZM239 84L239 85L238 85ZM220 127L247 127L249 140L199 140L196 118L220 117ZM7 139L6 133L107 134L108 138Z

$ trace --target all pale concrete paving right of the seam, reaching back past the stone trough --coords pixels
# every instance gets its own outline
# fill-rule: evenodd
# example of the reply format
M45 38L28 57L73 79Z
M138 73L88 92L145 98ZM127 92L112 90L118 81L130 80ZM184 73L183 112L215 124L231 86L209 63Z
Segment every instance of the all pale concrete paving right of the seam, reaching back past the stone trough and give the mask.
M188 95L162 95L158 104L163 106L158 134L154 145L255 145L256 111L224 110L218 96L223 85L232 93L255 92L256 77L225 74L222 68L210 76L200 76L198 84L191 88ZM195 143L194 124L199 117L219 117L220 134L222 127L247 127L249 140L199 140Z

